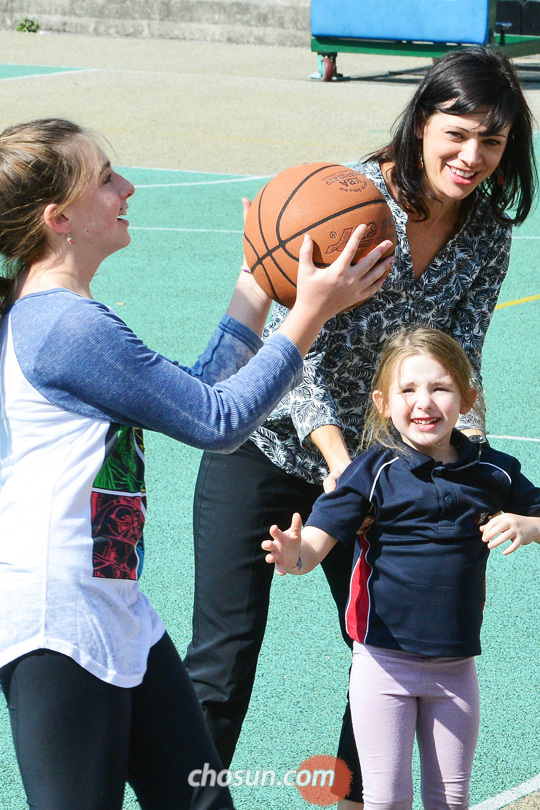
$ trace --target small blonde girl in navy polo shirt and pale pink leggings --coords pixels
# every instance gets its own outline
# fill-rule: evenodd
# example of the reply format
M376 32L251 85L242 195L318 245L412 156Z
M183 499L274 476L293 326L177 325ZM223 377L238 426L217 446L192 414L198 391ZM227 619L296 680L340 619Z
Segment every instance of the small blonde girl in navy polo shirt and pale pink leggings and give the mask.
M279 574L307 573L336 543L356 544L346 621L366 810L412 807L415 735L425 810L469 806L489 549L540 542L540 489L515 458L455 430L476 405L470 379L448 335L417 327L391 338L373 383L369 449L304 529L295 515L262 544Z

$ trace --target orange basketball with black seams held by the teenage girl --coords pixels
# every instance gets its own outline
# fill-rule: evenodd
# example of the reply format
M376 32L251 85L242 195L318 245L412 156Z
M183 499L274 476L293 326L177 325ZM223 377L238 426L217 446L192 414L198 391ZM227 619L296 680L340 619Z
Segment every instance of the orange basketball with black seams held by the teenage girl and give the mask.
M244 225L244 253L253 277L274 301L296 300L299 252L304 234L313 239L313 262L335 261L358 225L367 225L354 263L396 230L378 188L354 169L336 163L304 163L277 174L257 194Z

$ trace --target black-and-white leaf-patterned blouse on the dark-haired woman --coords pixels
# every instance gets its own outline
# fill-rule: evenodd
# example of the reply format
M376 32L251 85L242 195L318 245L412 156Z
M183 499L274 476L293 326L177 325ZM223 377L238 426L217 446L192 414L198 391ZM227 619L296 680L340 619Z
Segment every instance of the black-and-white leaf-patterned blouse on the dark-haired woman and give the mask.
M407 214L390 196L377 162L355 167L382 191L395 219L396 261L378 293L329 320L304 362L301 384L287 394L251 436L287 473L320 483L328 470L309 438L337 425L351 456L357 454L370 386L385 340L402 326L423 323L452 335L465 349L481 389L482 346L510 258L511 226L499 224L486 204L448 242L415 281L407 240ZM288 310L276 304L267 339ZM476 415L458 427L483 425Z

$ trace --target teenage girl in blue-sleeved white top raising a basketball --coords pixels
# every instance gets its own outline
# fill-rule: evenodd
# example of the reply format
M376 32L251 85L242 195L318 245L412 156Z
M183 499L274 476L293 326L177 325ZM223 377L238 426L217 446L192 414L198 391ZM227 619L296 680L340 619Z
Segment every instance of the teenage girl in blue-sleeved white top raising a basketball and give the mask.
M92 298L103 259L129 244L133 193L76 124L0 134L0 683L34 810L120 810L126 781L144 810L178 810L197 798L192 770L221 769L139 588L142 428L233 450L299 381L325 320L378 290L391 262L376 264L385 242L351 268L360 228L316 270L308 239L297 304L265 346L270 300L242 273L186 368ZM209 785L198 807L231 808L228 788Z

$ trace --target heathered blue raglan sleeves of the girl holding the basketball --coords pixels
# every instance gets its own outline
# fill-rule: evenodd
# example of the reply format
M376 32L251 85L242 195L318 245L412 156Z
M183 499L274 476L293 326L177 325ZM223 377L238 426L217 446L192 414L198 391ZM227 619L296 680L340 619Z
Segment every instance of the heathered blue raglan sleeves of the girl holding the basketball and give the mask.
M275 335L236 374L222 379L227 362L236 370L239 358L246 360L258 345L251 330L230 318L189 369L145 346L104 305L73 295L59 294L58 301L21 299L18 305L26 306L13 308L11 324L26 378L66 410L232 452L301 378L298 349ZM226 350L231 341L243 344L236 346L236 356Z

